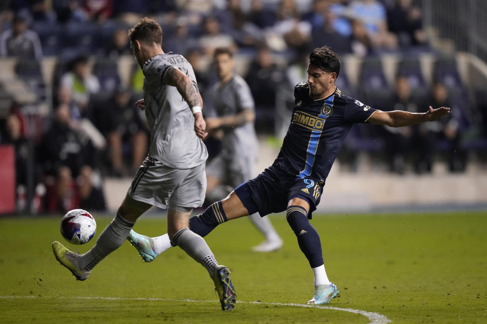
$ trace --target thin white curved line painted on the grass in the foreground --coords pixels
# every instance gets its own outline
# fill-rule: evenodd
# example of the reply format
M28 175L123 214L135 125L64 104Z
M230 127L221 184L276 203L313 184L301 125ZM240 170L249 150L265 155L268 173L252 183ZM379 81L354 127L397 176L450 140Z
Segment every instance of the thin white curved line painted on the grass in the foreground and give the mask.
M0 299L16 299L16 298L43 298L37 296L0 296ZM56 297L53 297L56 298ZM218 300L192 300L192 299L166 299L166 298L123 298L123 297L63 297L59 296L57 298L63 299L102 299L102 300L151 300L151 301L168 301L168 302L191 302L191 303L217 303ZM276 306L294 306L294 307L308 307L308 308L321 308L321 309L333 309L341 310L344 312L359 314L367 317L370 322L368 324L387 324L391 322L386 315L379 313L368 312L360 309L353 308L340 308L333 306L315 306L315 305L304 305L304 304L293 304L293 303L268 303L268 302L246 302L237 301L237 304L265 304L265 305L276 305Z

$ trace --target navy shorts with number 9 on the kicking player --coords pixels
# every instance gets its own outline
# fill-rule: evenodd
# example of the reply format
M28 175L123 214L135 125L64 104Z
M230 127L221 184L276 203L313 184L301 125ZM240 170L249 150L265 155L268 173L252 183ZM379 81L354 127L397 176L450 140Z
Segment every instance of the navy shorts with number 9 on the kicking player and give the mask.
M296 179L295 175L272 167L235 188L235 193L249 215L258 212L261 217L285 211L289 200L298 197L308 201L308 218L311 219L311 213L320 203L322 192L323 183L317 183L311 178Z

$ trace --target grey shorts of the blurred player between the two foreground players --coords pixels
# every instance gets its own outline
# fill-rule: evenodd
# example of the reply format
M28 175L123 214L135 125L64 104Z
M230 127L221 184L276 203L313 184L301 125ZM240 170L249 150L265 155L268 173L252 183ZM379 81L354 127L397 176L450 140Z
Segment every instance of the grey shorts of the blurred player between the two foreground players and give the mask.
M255 159L253 155L228 157L218 154L206 165L206 173L235 188L242 182L254 178Z

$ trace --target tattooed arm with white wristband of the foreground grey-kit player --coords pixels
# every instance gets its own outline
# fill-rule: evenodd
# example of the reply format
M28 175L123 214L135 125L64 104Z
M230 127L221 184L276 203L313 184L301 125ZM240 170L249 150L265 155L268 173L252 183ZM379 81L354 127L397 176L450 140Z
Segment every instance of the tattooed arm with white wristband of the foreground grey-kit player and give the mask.
M204 139L208 133L205 132L206 123L201 114L203 100L196 85L193 84L189 76L175 67L169 67L166 70L164 82L169 86L176 87L183 99L191 107L194 115L194 131L199 138ZM197 109L196 111L194 110L195 108Z

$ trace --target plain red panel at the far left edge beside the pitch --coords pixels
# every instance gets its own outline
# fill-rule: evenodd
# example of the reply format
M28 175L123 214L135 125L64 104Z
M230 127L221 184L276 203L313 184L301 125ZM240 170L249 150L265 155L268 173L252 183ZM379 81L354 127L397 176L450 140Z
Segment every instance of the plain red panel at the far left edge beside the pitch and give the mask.
M0 145L0 214L15 212L15 148Z

